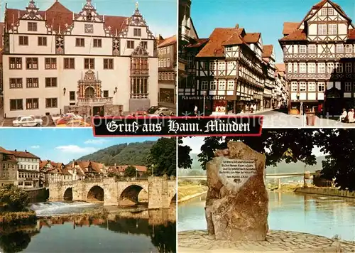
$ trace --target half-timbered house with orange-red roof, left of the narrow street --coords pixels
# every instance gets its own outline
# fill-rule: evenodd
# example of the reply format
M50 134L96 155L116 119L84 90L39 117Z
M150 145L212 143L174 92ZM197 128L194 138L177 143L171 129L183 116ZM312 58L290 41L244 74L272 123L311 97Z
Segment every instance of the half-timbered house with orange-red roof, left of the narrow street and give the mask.
M249 112L263 108L261 33L244 28L215 28L196 55L195 100L200 112Z

